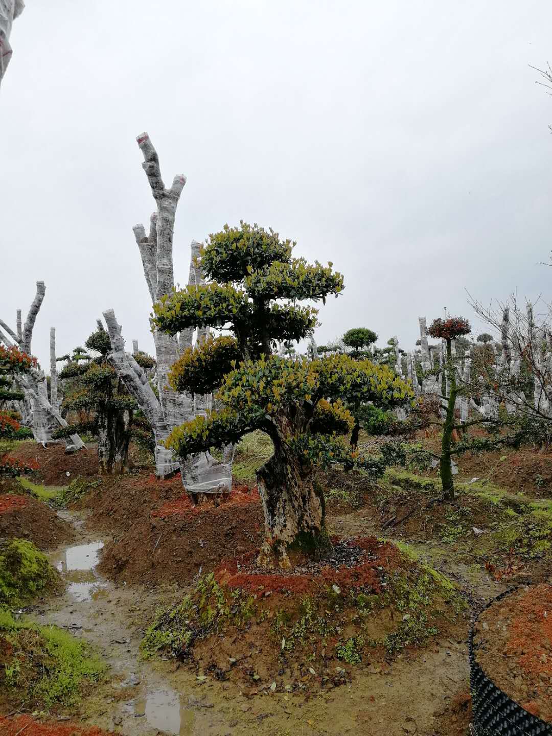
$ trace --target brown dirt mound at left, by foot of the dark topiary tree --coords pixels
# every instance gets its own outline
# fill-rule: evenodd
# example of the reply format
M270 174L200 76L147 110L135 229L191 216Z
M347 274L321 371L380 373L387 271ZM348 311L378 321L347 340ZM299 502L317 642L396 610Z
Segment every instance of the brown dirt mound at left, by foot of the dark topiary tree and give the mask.
M46 486L65 486L79 475L85 478L98 475L96 447L67 454L63 443L43 447L36 442L20 442L10 450L10 457L35 463L36 475Z

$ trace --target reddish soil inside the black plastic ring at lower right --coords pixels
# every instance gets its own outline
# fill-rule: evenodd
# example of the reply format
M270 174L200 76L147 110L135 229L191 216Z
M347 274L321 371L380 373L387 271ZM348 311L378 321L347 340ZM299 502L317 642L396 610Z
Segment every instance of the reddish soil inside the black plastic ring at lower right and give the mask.
M552 585L506 595L479 617L475 658L506 695L552 723Z

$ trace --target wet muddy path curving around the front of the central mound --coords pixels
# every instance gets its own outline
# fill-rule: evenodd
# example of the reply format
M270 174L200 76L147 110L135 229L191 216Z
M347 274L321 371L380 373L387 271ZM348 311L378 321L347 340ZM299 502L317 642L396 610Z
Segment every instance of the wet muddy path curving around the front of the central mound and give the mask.
M77 539L50 559L68 587L40 606L37 618L93 643L110 664L113 684L87 699L86 723L127 736L371 736L381 734L382 727L388 736L432 736L439 733L435 712L446 710L467 687L467 621L454 640L434 643L414 657L405 653L383 671L368 665L350 686L311 698L270 692L246 698L232 683L197 682L174 661L142 662L144 626L157 606L176 601L183 591L115 585L103 578L96 564L107 539L90 531L90 520L85 528L82 512L63 512L63 517L73 524ZM341 521L335 520L341 533L365 523L351 515Z

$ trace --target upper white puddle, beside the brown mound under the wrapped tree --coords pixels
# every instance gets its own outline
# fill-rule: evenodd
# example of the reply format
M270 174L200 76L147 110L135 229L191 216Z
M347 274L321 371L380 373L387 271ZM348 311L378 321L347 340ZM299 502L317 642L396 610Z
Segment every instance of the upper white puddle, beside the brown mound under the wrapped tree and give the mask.
M75 601L95 600L100 595L100 590L107 592L107 583L101 581L93 570L99 562L99 551L103 546L103 542L74 545L50 559L68 582L67 592Z

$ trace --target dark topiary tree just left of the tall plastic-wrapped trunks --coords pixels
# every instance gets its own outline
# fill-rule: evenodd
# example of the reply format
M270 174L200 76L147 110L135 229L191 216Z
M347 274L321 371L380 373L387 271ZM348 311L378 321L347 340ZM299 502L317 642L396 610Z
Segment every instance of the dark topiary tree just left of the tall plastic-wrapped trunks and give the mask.
M96 436L100 473L126 473L137 404L107 362L111 344L101 322L98 321L98 329L88 337L85 346L96 357L88 355L82 347L75 348L60 378L74 379L63 400L63 411L82 412L89 418L57 430L54 436L67 436L76 431ZM143 431L140 427L138 434Z

